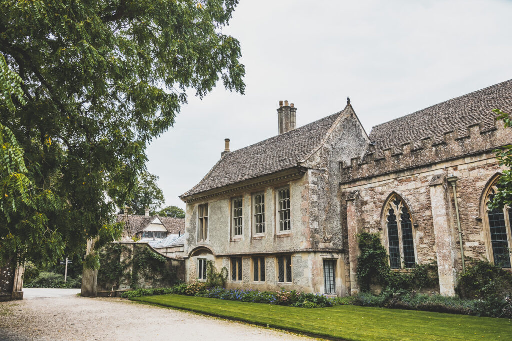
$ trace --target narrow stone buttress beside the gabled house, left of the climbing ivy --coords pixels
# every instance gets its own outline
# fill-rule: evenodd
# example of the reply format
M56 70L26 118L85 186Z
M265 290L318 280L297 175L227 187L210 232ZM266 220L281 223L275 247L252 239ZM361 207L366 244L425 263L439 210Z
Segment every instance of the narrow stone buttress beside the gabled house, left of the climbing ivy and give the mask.
M355 294L359 292L357 283L357 256L359 255L359 243L357 234L362 228L359 212L357 209L357 198L359 191L350 193L347 197L347 228L349 241L349 259L350 259L350 292Z

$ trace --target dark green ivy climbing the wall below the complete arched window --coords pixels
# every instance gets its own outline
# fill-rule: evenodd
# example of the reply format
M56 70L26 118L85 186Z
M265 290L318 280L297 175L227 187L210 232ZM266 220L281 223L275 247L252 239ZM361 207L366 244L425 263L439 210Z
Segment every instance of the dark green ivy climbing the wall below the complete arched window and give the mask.
M358 234L357 282L361 291L370 291L372 285L383 290L421 290L439 285L437 263L416 264L410 272L396 271L388 261L388 252L377 233Z

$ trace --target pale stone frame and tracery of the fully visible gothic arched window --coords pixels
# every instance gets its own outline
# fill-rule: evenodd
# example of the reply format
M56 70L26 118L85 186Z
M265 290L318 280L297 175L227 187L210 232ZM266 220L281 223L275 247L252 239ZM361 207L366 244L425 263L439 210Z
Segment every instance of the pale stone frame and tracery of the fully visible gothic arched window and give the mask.
M393 247L398 247L398 255L400 257L400 264L397 267L396 264L393 264L392 262L392 256L391 256L391 238L390 238L390 230L389 230L389 218L390 218L390 209L393 209L393 215L395 216L394 221L396 223L397 228L397 234L398 234L398 245L393 245ZM407 210L404 212L403 210ZM406 220L403 220L404 215L409 215L408 220L410 220L410 226L404 226L405 223L407 223ZM418 251L417 251L417 242L416 242L416 228L414 223L414 218L412 211L406 202L406 200L403 199L401 195L399 195L396 192L393 192L388 199L386 200L386 204L384 205L384 210L382 211L382 225L383 225L383 235L385 236L385 246L387 249L387 253L389 256L388 263L391 266L392 269L400 270L400 269L411 269L415 266L415 264L418 264ZM403 230L404 228L411 229L411 238L408 240L412 241L412 250L410 249L409 257L411 257L411 252L414 255L414 264L409 264L411 266L408 266L406 264L406 257L404 250L404 238L403 238Z

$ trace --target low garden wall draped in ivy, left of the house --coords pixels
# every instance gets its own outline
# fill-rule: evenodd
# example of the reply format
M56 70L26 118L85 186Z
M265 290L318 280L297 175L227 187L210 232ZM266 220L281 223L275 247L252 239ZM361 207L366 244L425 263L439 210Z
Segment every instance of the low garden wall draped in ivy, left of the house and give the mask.
M185 280L185 261L158 253L147 243L114 242L100 252L97 295L134 288L172 286Z

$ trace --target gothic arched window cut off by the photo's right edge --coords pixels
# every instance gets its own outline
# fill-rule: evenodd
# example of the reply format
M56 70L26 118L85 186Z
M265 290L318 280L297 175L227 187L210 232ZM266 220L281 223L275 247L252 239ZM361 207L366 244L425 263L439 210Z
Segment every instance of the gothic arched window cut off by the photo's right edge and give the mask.
M484 196L484 225L487 235L487 253L489 261L501 267L510 265L510 222L512 221L512 210L505 206L503 209L490 209L489 202L493 200L498 190L498 179L488 186Z

